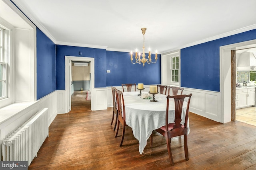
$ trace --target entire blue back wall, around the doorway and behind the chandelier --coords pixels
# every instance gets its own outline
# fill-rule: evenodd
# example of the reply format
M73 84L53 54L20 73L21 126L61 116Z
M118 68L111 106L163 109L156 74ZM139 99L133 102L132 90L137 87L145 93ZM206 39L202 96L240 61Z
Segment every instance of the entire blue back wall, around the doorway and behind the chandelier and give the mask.
M82 55L79 55L79 51ZM56 80L57 90L65 89L65 56L94 58L94 86L121 86L122 83L161 83L161 57L156 64L132 64L130 53L106 51L87 47L56 45ZM154 59L153 59L154 61ZM110 73L106 73L110 70Z

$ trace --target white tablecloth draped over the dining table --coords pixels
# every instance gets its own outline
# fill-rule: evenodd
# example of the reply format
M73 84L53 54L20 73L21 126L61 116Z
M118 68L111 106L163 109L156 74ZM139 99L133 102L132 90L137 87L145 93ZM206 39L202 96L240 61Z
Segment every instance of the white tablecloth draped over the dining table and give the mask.
M148 92L142 92L142 94ZM150 99L142 99L138 96L140 92L124 92L124 105L126 113L126 125L132 128L132 133L139 141L139 152L143 154L147 145L147 140L153 130L165 125L166 102L164 94L155 94L154 98L158 102L150 102ZM142 95L145 96L145 95ZM147 96L147 95L146 95ZM152 95L149 94L152 97ZM184 101L182 107L182 121L184 124L187 102ZM168 121L173 123L175 119L174 99L169 100ZM189 119L187 123L189 133Z

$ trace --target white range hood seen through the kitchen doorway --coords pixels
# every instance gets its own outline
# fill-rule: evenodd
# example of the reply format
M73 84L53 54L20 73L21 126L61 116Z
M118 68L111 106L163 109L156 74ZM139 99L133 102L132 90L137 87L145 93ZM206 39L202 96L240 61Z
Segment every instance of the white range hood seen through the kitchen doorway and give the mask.
M256 70L256 57L253 52L240 54L237 70Z

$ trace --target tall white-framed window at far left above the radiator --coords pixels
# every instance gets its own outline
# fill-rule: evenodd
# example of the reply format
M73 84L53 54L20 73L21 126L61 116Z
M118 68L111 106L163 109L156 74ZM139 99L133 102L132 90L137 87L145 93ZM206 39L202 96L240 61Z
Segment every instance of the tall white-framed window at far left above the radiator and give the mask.
M8 30L0 25L0 100L7 98Z

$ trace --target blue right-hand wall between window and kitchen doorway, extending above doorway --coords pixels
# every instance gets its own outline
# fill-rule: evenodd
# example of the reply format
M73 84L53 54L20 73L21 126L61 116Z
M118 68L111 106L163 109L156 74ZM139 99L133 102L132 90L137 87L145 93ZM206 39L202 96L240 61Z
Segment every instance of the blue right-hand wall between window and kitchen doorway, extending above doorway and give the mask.
M252 39L256 39L256 29L181 49L181 86L219 92L220 46Z

